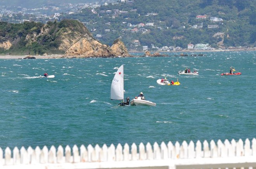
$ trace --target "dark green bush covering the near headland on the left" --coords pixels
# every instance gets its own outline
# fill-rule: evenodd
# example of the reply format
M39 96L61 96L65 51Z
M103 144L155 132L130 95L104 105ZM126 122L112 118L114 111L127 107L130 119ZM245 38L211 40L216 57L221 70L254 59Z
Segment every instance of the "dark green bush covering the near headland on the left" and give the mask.
M9 50L0 48L0 54L64 54L65 51L60 51L58 47L62 43L61 35L68 29L80 34L90 34L77 20L49 21L46 25L39 22L23 24L0 22L0 43L10 41L13 44Z

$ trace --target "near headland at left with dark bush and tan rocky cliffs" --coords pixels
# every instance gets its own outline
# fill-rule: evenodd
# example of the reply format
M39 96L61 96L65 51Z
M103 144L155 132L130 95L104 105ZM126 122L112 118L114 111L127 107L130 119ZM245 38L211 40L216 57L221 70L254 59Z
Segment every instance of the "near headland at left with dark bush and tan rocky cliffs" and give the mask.
M65 54L79 57L129 56L121 41L116 40L111 48L111 46L95 40L81 22L68 19L61 22L47 22L47 24L0 22L0 54Z

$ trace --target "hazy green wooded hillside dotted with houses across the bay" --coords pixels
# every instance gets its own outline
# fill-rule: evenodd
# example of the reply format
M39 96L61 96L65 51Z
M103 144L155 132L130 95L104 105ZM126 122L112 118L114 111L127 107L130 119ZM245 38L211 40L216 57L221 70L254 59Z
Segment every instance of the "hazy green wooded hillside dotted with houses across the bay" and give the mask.
M135 48L133 41L138 39L141 46L180 46L187 48L187 44L209 43L212 47L219 47L223 40L223 47L255 46L256 39L256 0L134 0L132 4L121 3L91 9L74 15L63 15L63 18L78 19L86 22L86 27L99 40L111 45L114 39L121 37L128 49ZM114 19L112 14L100 11L119 9L128 11ZM136 12L130 12L137 9ZM157 13L149 15L147 13ZM207 19L196 19L197 15L207 15ZM209 17L222 18L222 22L210 22ZM126 22L126 24L122 24ZM146 27L149 31L142 34L131 33L127 23L154 22L154 27ZM106 24L108 23L108 24ZM191 25L203 24L201 29L192 29ZM207 25L216 24L218 28L208 28ZM184 28L185 27L185 28ZM104 32L105 29L115 32ZM222 32L224 37L213 36ZM141 49L141 46L140 49Z

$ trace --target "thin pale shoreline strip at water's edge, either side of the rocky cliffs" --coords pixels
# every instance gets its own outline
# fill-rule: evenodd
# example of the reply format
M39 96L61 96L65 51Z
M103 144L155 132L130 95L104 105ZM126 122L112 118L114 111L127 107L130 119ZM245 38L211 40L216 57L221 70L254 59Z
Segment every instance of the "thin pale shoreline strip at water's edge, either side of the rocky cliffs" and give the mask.
M256 51L256 50L242 50L242 49L223 49L223 50L182 50L182 51L149 51L150 53L159 52L159 53L178 53L180 54L187 54L187 53L194 53L194 52L237 52L237 51ZM185 52L185 53L184 53ZM142 53L142 56L144 56L145 51L131 51L129 53ZM26 57L34 57L34 58L26 58ZM131 56L133 57L133 56ZM153 56L152 56L153 57ZM0 59L71 59L71 58L83 58L82 56L67 56L64 54L52 54L52 55L37 55L37 56L31 56L31 55L0 55Z

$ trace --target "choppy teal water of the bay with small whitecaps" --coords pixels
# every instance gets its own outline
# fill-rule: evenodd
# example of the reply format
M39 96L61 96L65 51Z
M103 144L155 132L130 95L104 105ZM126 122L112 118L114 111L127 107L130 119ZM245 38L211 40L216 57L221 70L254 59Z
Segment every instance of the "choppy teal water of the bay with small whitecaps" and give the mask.
M131 145L256 136L256 52L206 56L0 60L0 147ZM141 91L156 106L110 100L124 64L125 96ZM198 76L178 75L188 66ZM234 66L239 76L220 76ZM36 78L43 73L55 78ZM180 81L160 86L159 78Z

